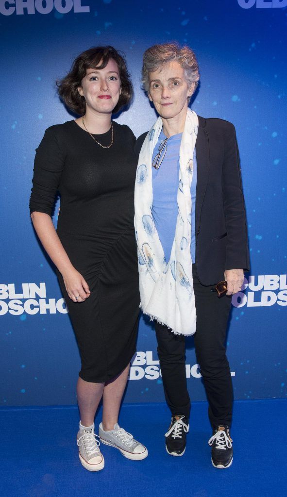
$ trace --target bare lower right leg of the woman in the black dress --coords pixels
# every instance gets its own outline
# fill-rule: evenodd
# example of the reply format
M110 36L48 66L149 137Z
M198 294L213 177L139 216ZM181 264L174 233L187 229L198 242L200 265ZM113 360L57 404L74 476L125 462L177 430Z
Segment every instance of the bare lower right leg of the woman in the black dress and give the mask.
M102 427L104 431L112 430L114 424L117 423L120 403L128 378L129 366L128 364L116 378L104 386L102 396Z

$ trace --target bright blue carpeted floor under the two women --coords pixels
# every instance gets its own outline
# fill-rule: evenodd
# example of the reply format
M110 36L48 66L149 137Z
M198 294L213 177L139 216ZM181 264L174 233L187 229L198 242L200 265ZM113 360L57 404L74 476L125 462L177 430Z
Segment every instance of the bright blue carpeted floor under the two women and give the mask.
M101 445L105 467L98 473L80 464L76 408L3 408L0 496L285 497L286 408L285 399L235 402L233 464L218 470L210 462L206 403L192 406L183 457L172 457L165 450L164 433L170 422L166 406L125 405L120 424L148 447L149 456L129 461Z

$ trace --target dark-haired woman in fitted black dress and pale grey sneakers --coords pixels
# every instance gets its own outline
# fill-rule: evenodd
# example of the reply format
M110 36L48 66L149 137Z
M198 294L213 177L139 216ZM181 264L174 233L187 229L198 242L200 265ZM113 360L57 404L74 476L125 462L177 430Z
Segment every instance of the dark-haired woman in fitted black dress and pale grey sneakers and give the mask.
M46 130L35 158L30 211L56 265L81 354L79 457L86 469L98 471L104 459L94 417L101 398L101 441L129 459L148 455L117 422L136 349L139 306L135 137L127 126L111 121L112 112L132 97L124 58L110 46L83 52L59 83L59 93L81 117ZM51 213L57 191L56 232Z

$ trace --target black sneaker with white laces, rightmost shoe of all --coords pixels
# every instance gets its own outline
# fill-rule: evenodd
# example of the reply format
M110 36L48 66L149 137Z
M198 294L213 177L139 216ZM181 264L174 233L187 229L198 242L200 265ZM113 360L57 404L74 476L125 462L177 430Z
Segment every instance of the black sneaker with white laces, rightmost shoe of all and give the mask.
M214 468L225 469L233 461L232 439L228 426L214 426L213 435L208 440L211 445L211 462Z

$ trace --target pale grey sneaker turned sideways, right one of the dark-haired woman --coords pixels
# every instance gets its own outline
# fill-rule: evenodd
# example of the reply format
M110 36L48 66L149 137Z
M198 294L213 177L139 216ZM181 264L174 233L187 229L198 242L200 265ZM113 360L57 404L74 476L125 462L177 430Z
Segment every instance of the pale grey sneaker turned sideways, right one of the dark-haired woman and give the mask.
M102 423L100 423L98 432L102 443L115 447L127 459L140 461L148 456L147 448L137 442L131 433L128 433L123 428L120 428L118 423L116 423L114 425L114 429L110 431L104 431L102 429Z

